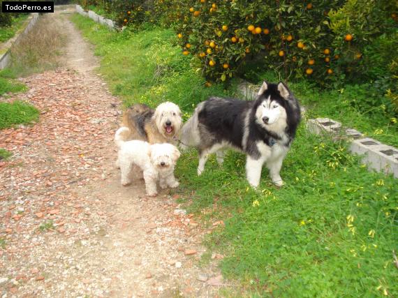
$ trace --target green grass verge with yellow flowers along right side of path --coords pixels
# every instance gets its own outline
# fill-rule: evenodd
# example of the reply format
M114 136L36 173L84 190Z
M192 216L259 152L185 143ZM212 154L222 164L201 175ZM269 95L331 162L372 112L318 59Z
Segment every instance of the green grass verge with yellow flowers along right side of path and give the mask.
M220 85L203 87L189 58L172 45L172 31L112 33L79 15L72 19L94 43L99 71L125 105L154 107L172 100L189 113L209 94L235 93L235 84L230 91ZM312 94L306 86L297 83L292 89L299 96ZM237 285L223 295L398 295L392 259L392 249L397 250L396 179L368 172L347 153L346 144L310 135L304 121L281 171L286 186L274 188L264 170L258 191L253 190L244 177L244 162L244 155L229 152L220 167L212 157L198 177L197 154L188 151L176 169L181 181L177 192L188 211L209 225L220 219L226 224L206 239L209 251L226 255L221 270Z

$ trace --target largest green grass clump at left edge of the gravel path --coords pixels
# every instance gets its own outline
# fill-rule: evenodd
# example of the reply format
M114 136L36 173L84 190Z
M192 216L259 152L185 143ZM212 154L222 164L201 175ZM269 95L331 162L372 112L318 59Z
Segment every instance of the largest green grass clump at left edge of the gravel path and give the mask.
M38 121L38 114L36 107L20 100L0 103L0 129Z

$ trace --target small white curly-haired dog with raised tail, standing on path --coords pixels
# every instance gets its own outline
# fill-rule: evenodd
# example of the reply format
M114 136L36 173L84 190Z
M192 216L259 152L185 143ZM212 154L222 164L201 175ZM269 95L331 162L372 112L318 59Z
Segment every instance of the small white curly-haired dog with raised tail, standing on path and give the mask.
M175 188L179 182L174 177L175 163L180 153L172 144L149 144L145 141L125 141L130 134L127 127L121 127L115 133L115 143L119 149L116 161L117 167L121 170L121 185L131 183L129 174L133 165L138 165L142 170L145 180L147 195L156 196L156 182L159 181L161 188Z

